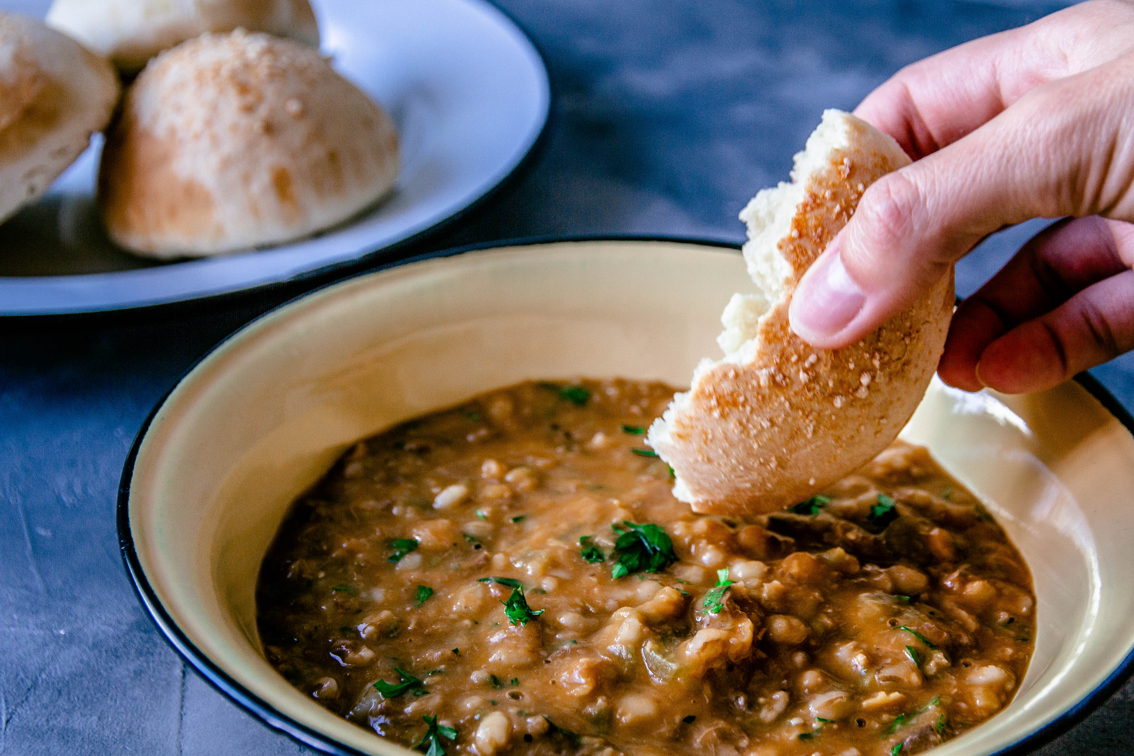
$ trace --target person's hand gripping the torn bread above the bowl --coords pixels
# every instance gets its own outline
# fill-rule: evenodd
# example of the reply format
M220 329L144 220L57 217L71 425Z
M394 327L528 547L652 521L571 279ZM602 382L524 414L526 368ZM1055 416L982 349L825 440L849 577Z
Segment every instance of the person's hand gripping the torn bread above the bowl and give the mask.
M1134 348L1134 5L1085 2L928 58L855 114L915 162L866 189L803 277L799 337L853 343L989 233L1067 215L960 305L939 375L1038 391Z

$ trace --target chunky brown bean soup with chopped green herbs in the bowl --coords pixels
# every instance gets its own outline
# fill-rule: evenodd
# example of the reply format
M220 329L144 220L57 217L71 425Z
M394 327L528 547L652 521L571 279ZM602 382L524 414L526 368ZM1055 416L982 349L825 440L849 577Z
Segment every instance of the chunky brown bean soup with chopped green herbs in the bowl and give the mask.
M1031 576L924 449L699 516L642 443L672 393L524 383L358 443L264 559L268 659L432 756L914 754L1008 703Z

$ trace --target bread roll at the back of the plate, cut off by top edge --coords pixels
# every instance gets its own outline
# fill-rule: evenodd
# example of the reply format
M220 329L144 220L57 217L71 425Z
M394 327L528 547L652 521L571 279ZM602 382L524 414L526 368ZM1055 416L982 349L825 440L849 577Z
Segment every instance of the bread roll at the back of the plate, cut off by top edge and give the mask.
M124 74L205 32L245 28L319 46L307 0L56 0L46 20Z

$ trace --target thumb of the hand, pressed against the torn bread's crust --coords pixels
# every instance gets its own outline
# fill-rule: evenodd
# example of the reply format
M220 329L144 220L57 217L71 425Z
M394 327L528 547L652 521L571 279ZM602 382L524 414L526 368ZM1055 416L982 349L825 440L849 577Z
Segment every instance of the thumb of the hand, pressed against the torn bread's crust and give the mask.
M845 347L925 296L1000 228L1100 212L1125 220L1134 211L1134 147L1114 109L1116 100L1134 101L1134 86L1128 78L1110 84L1107 68L1036 87L964 138L871 185L799 281L792 329L814 347ZM1100 96L1103 85L1111 91Z

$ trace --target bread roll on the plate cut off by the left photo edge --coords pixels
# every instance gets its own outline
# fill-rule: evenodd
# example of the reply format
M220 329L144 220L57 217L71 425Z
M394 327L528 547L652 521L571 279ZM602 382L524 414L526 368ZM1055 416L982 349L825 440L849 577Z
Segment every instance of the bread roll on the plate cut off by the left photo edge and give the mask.
M39 20L0 12L0 221L75 162L116 102L110 63Z

